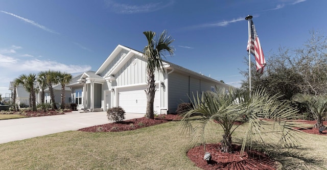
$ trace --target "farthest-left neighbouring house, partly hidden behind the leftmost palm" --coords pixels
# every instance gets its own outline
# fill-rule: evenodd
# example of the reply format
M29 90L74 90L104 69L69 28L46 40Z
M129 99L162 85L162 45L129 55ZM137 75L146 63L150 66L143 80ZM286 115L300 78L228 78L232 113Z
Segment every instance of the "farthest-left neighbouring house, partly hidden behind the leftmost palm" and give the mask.
M14 94L14 82L9 83L9 90L11 91L11 96L13 98ZM30 93L25 90L22 85L16 86L16 104L19 106L24 104L29 106L30 104Z

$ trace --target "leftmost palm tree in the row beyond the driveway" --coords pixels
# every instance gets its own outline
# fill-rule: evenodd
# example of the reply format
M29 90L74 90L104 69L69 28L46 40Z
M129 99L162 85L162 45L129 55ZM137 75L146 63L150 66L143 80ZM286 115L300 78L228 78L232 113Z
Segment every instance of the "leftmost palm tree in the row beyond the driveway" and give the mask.
M36 81L35 74L25 75L22 74L15 80L17 85L21 84L26 91L30 92L30 107L32 106L32 110L36 111L36 97L35 97L35 87L34 83Z

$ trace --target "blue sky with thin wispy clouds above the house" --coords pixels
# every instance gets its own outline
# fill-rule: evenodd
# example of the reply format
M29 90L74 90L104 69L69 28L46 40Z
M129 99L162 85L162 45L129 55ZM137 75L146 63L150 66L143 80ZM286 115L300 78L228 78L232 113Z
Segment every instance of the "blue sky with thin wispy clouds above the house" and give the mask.
M148 30L175 39L175 55L165 60L238 87L248 67L247 15L268 60L279 46L300 47L312 29L325 35L326 7L314 0L1 0L0 93L8 95L21 74L96 71L118 44L142 51Z

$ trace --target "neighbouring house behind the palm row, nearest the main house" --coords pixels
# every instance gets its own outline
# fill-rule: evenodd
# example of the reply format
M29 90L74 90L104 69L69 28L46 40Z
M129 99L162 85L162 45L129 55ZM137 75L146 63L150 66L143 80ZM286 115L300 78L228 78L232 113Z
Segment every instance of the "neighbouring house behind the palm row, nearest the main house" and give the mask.
M38 86L37 86L37 88L38 88ZM61 84L53 85L52 88L53 88L53 92L55 95L55 102L60 104L61 103ZM72 93L71 88L65 87L65 104L72 103L71 93ZM36 102L41 103L41 89L39 89L39 93L37 95ZM50 96L49 88L44 89L44 103L51 103L51 96Z

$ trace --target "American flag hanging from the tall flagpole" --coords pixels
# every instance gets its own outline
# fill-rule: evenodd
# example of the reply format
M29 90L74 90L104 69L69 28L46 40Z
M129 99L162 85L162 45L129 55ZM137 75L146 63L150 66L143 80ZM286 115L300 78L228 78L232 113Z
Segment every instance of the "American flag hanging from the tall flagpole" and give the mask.
M264 72L266 60L265 60L264 52L262 51L261 48L258 34L256 34L252 19L250 20L250 27L251 27L251 35L247 42L246 51L249 51L250 48L250 53L255 57L256 71L262 74Z

